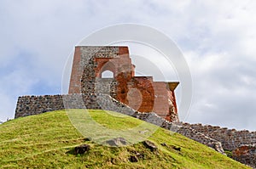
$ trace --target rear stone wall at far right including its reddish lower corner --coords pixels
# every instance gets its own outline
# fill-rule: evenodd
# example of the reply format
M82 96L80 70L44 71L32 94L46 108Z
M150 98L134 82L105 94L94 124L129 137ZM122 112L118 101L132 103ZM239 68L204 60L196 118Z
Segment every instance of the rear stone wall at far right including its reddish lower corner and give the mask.
M192 128L209 138L218 140L223 149L232 152L232 159L256 168L256 132L236 131L236 129L201 124L179 123L179 125ZM183 135L186 136L185 134ZM201 140L197 141L202 143Z

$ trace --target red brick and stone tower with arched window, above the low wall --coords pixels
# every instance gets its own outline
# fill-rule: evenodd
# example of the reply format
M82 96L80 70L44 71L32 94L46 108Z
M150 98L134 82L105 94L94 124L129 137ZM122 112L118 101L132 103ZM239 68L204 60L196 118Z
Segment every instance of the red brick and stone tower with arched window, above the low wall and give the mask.
M167 121L178 121L174 94L178 83L154 82L151 76L134 76L134 69L127 47L76 47L69 93L101 93L102 72L110 70L113 81L104 93L134 110L154 111Z

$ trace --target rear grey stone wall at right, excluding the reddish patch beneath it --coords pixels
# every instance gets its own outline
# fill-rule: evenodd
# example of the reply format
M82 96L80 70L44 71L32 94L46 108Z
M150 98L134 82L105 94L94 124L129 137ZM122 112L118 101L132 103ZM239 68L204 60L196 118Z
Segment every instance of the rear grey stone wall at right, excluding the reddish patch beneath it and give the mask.
M184 127L191 127L209 138L218 140L224 149L233 150L242 144L256 144L256 132L249 132L247 130L236 131L226 127L204 126L201 124L183 123L182 125Z

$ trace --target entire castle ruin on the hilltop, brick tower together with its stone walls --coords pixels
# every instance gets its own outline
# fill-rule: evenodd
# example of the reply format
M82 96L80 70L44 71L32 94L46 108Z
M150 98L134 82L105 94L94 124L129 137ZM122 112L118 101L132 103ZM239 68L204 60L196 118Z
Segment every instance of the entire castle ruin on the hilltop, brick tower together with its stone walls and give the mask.
M104 72L111 78L104 78ZM174 90L178 82L135 76L127 47L75 48L68 94L22 96L15 118L64 109L113 110L194 139L233 159L256 167L256 132L178 122ZM143 113L141 113L143 112Z

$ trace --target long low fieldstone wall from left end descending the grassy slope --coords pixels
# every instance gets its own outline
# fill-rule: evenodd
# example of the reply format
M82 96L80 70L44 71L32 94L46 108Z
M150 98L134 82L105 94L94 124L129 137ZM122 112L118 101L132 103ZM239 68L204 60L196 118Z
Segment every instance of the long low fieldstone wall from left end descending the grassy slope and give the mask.
M148 121L156 126L166 128L167 130L181 133L188 138L200 142L201 144L206 144L207 146L216 149L220 153L224 153L221 144L217 140L208 138L204 134L196 132L190 127L183 127L170 121L166 121L155 113L141 113L137 110L133 110L126 104L113 99L108 94L67 94L20 97L17 102L15 118L64 109L117 111L125 115L131 115L143 121Z

